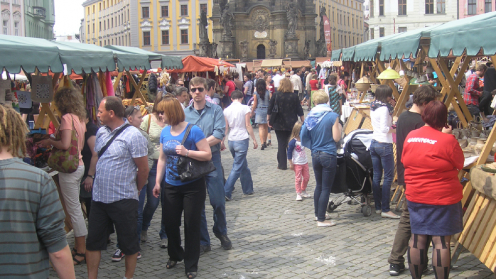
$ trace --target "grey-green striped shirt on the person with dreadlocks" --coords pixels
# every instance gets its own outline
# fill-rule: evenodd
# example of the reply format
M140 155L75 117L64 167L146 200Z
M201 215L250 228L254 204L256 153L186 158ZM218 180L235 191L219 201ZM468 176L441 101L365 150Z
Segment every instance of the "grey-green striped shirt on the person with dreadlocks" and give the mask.
M48 253L67 246L64 218L48 173L0 160L0 277L48 278Z

